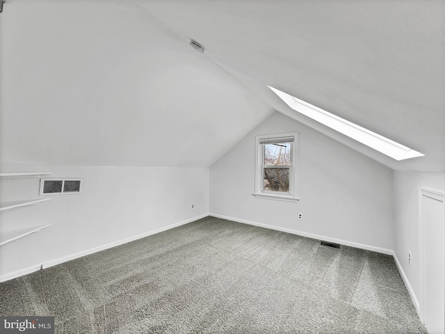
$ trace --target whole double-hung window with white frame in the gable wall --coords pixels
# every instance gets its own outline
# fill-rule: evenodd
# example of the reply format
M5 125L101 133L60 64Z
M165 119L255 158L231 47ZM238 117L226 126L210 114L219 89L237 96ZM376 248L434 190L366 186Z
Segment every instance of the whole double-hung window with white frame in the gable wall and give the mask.
M298 200L296 196L297 138L296 132L256 137L255 197Z

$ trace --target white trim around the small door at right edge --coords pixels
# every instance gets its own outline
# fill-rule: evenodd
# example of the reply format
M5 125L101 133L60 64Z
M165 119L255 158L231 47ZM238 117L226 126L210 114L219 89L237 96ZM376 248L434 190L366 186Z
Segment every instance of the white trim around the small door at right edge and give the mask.
M419 262L420 262L419 269L420 269L420 287L421 287L421 296L419 300L420 302L419 317L423 324L425 324L425 265L423 260L423 253L424 253L423 198L425 197L432 198L434 200L439 200L440 202L442 202L445 213L445 192L423 187L419 188Z

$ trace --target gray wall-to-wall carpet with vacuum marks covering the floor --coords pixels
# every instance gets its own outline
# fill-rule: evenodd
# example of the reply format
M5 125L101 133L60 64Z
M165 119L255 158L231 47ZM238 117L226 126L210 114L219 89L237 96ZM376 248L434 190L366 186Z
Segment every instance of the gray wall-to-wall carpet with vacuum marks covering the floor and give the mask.
M56 333L426 333L394 260L207 217L0 283Z

